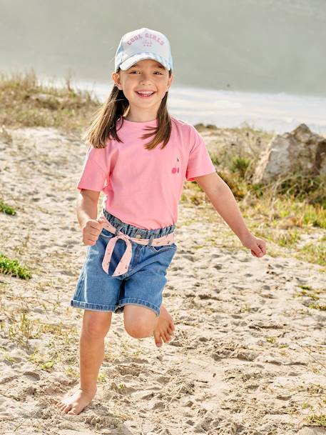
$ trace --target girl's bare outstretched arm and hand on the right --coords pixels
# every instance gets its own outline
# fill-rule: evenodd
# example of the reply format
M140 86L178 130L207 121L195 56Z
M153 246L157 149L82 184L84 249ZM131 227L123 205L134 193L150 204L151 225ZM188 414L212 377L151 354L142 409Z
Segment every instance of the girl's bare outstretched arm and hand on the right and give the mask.
M197 181L201 189L208 196L214 209L238 236L243 246L250 249L253 256L264 256L266 254L266 242L257 239L248 230L228 184L216 172L195 177L194 180Z

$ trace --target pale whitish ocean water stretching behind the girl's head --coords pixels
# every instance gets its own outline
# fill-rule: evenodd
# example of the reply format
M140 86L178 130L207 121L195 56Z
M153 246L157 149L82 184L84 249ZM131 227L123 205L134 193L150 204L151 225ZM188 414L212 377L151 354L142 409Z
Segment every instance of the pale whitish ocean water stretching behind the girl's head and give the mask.
M105 101L112 83L75 81L73 86L88 89ZM306 124L318 134L326 133L326 98L290 94L261 94L241 91L217 91L195 87L171 86L168 110L172 116L190 124L215 124L284 133Z

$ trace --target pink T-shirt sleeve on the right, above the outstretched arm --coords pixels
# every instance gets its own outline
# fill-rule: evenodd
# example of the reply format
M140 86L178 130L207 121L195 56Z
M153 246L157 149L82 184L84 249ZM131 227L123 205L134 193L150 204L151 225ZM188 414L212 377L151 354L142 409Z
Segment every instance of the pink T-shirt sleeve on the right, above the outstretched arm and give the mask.
M210 155L208 154L202 136L200 136L193 126L191 126L189 137L192 146L190 149L187 170L185 171L185 179L187 181L193 181L197 176L212 174L216 170L213 161L210 159Z

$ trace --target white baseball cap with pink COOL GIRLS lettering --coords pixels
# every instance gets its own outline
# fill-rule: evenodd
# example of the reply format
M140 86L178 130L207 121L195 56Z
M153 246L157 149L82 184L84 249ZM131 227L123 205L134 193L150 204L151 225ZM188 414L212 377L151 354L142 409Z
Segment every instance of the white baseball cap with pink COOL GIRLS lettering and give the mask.
M115 71L126 70L143 59L154 59L170 71L173 64L168 38L146 27L124 34L114 59Z

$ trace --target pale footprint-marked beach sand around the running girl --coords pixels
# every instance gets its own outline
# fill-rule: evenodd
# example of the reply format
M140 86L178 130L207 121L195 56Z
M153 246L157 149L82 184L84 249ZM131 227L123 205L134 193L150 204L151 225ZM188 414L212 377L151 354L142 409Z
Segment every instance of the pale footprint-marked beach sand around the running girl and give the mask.
M225 224L180 204L178 251L163 298L175 336L158 349L133 339L113 314L98 394L79 416L54 399L78 385L82 311L73 294L86 247L76 220L76 180L85 144L55 129L8 130L0 142L1 252L32 279L0 275L1 434L325 434L307 421L326 414L326 311L300 285L322 289L321 267L257 259L207 246Z

